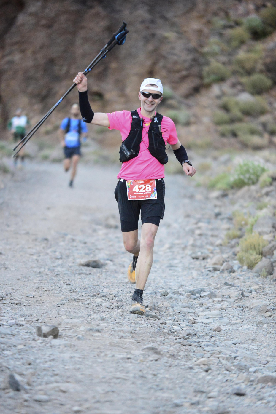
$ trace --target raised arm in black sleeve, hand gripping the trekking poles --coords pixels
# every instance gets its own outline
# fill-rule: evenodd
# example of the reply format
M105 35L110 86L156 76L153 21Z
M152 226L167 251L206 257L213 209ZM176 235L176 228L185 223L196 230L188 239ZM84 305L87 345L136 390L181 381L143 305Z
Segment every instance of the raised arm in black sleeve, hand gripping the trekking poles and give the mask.
M77 89L79 91L80 113L84 122L109 127L107 113L94 113L91 109L87 96L87 77L83 75L82 72L79 72L73 82L77 84Z

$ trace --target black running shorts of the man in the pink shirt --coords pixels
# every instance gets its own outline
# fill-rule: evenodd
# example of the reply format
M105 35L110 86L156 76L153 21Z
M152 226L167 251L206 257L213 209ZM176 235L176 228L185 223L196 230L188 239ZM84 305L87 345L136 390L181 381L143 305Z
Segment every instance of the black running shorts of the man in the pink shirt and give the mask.
M131 201L128 200L126 180L121 181L119 178L114 194L119 205L121 231L137 230L140 212L142 224L152 223L159 226L160 219L163 219L165 212L165 182L163 179L156 179L155 183L156 199Z

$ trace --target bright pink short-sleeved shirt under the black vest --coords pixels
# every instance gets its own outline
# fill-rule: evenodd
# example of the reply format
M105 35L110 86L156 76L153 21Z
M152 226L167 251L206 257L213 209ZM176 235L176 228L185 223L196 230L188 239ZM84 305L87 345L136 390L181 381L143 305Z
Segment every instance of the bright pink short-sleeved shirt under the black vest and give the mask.
M137 111L140 118L144 119L140 152L137 157L122 163L122 167L117 175L117 178L124 178L125 180L162 178L164 177L164 165L160 164L160 162L157 161L157 159L152 156L148 150L148 129L150 127L151 119L141 116L141 108L138 108ZM119 130L121 132L122 141L124 141L131 130L131 112L116 111L108 113L107 116L110 123L109 129ZM171 118L163 116L161 131L165 144L167 144L167 142L172 145L177 144L177 132Z

